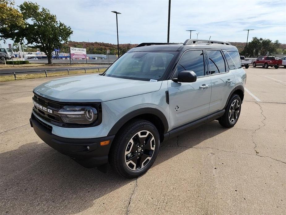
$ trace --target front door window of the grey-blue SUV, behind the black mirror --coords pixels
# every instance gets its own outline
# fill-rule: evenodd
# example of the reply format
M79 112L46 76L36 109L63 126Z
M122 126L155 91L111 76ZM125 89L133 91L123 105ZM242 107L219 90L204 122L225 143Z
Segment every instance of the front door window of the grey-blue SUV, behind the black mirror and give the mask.
M204 76L203 50L187 51L181 57L176 72L178 73L184 70L194 71L197 77Z

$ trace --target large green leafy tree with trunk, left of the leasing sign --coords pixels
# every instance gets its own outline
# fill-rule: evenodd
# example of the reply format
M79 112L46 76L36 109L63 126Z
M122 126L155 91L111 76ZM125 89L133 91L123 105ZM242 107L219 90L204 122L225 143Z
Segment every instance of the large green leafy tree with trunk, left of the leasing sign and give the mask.
M70 27L57 20L56 15L46 8L40 10L40 6L33 2L24 2L19 6L25 21L25 27L20 29L14 38L15 42L27 40L27 45L43 51L48 58L48 64L52 64L52 52L55 48L61 48L62 42L67 42L72 34Z

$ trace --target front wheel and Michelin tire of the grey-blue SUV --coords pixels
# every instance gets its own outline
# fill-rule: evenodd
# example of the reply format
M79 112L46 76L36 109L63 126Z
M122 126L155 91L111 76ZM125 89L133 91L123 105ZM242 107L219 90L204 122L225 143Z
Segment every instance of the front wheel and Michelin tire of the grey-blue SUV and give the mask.
M117 134L109 153L110 165L125 178L136 178L146 173L159 152L160 137L155 125L136 119Z

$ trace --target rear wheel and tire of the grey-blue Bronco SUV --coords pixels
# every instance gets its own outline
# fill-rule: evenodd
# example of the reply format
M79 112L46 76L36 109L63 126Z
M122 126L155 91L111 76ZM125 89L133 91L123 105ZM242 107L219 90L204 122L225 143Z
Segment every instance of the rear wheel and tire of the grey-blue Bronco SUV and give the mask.
M226 128L233 127L238 121L240 112L241 112L241 99L239 95L233 94L228 101L224 115L219 119L220 125Z

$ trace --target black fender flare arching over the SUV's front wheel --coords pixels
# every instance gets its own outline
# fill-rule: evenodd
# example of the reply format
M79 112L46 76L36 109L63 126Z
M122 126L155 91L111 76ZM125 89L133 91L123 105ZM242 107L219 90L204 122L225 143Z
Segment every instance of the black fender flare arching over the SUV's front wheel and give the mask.
M163 126L164 126L164 134L168 132L169 130L169 124L167 121L166 116L158 109L156 108L139 108L136 109L132 112L127 113L125 116L123 116L120 120L118 120L115 125L113 125L113 127L110 129L109 133L107 134L107 136L109 135L114 135L117 134L117 132L119 131L119 129L126 123L128 122L130 119L136 117L136 116L140 116L142 114L152 114L157 116Z

